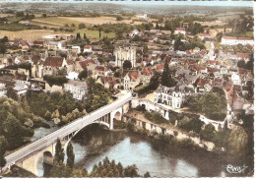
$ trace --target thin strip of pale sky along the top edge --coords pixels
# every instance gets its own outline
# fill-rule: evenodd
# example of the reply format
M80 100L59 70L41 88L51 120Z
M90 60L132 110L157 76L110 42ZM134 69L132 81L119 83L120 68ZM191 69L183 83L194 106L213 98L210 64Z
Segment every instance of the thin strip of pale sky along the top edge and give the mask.
M3 1L3 0L0 0ZM20 0L5 0L5 2L21 2ZM28 0L27 2L29 2ZM42 2L42 0L38 0ZM52 0L53 1L53 0ZM24 1L25 2L25 1ZM46 1L47 2L47 1ZM65 3L63 1L60 1L61 3ZM132 0L125 0L125 1L74 1L74 0L69 0L68 2L78 2L78 3L113 3L113 4L128 4L128 5L198 5L198 6L242 6L242 7L252 7L253 6L253 1L132 1Z

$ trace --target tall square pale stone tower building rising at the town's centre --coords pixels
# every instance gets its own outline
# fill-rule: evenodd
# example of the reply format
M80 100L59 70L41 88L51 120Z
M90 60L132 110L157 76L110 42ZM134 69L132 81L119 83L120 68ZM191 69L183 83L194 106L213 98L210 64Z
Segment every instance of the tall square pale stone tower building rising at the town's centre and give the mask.
M123 62L128 60L131 62L132 67L137 67L136 64L136 47L129 43L118 46L114 50L115 66L123 67Z

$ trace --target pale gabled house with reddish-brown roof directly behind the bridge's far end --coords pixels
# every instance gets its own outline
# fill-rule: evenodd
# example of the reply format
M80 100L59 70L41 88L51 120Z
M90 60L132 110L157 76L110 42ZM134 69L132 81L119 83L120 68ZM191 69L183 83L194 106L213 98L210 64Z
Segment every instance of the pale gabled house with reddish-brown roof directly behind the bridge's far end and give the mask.
M122 74L123 88L125 90L135 89L140 84L140 72L135 70L124 70Z

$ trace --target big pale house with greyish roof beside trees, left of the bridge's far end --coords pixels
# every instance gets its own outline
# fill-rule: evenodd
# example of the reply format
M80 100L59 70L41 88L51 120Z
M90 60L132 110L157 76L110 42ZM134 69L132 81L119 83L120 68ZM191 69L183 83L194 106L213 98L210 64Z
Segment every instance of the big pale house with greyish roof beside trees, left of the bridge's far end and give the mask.
M64 89L72 93L73 98L82 100L88 92L88 85L86 82L69 80L64 84Z

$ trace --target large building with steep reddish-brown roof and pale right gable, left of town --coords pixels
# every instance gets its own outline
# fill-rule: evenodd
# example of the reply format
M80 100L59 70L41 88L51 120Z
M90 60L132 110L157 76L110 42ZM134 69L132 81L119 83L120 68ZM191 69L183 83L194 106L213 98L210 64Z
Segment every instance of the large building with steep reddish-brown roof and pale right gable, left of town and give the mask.
M59 70L67 69L68 64L63 57L47 57L43 63L43 75L56 75Z

